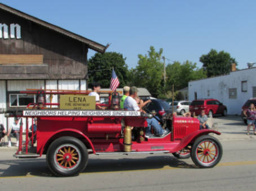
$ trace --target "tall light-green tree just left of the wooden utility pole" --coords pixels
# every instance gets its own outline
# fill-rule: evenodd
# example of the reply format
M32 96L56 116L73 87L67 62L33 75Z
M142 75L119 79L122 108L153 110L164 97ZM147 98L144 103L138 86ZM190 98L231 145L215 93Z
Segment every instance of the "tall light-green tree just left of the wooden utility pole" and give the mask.
M162 77L164 65L161 63L162 48L158 52L151 46L148 54L138 55L138 66L135 68L134 85L144 87L153 96L157 96L162 90Z

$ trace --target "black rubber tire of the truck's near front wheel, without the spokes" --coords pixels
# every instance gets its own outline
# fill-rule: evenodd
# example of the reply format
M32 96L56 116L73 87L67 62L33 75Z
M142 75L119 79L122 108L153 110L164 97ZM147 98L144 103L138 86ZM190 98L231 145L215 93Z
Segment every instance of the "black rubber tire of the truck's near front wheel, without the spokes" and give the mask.
M205 142L205 141L214 143L216 146L216 149L218 151L218 154L216 154L217 157L214 157L214 160L209 163L204 163L204 159L203 159L203 161L200 161L200 159L197 158L197 147L200 145L200 143ZM217 151L216 151L216 153L217 153ZM212 137L210 135L202 135L201 137L198 137L195 140L195 142L193 143L192 150L191 150L191 159L195 163L195 165L198 167L211 168L219 163L220 159L222 158L222 153L223 153L222 144L220 144L218 139L216 139L215 137Z

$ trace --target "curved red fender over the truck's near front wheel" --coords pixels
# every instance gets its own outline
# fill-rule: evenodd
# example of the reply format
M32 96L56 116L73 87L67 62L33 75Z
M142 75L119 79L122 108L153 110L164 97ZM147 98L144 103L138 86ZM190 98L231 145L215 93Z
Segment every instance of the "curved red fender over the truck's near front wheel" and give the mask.
M189 143L191 143L196 138L202 136L202 135L208 135L209 133L215 133L217 135L220 135L221 133L219 131L210 130L210 129L204 129L204 130L197 130L186 137L182 139L182 141L176 146L175 152L180 151L184 147L186 147Z

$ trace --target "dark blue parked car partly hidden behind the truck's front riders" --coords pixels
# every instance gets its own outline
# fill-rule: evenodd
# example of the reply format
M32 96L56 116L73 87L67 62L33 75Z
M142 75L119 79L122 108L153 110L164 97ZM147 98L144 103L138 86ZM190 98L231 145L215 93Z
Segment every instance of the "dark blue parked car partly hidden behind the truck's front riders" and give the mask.
M151 102L144 107L144 110L148 113L155 110L157 112L156 116L161 120L164 113L170 112L170 105L162 99L151 99Z

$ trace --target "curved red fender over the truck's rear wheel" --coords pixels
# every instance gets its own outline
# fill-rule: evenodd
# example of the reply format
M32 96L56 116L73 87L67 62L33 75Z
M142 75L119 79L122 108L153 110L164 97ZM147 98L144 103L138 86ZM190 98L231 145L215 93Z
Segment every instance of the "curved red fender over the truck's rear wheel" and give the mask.
M58 135L60 133L65 133L65 132L72 132L72 133L76 133L76 134L82 135L82 137L85 138L87 143L90 145L90 147L92 149L92 152L94 154L96 153L95 149L94 149L94 145L92 144L91 140L85 134L83 134L81 131L78 131L76 129L69 129L69 128L67 128L67 129L61 129L59 131L54 132L54 134L52 134L51 137L48 138L48 140L45 142L45 144L43 144L43 147L42 147L42 149L40 151L40 156L42 156L43 151L46 149L46 145L50 142L52 137L54 137L55 135Z

